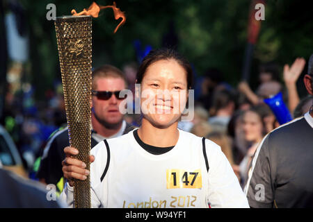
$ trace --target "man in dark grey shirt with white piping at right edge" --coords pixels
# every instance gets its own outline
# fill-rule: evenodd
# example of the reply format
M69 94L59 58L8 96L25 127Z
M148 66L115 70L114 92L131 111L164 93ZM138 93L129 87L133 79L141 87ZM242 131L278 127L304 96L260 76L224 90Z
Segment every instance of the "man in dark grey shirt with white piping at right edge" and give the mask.
M313 94L313 55L305 87ZM266 135L245 187L250 207L313 207L313 106Z

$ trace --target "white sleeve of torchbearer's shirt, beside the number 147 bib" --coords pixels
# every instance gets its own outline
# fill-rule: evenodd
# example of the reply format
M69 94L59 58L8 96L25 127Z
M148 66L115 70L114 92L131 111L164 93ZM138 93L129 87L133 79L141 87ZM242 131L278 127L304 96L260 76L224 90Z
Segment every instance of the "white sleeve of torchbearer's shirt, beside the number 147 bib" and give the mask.
M220 146L209 139L205 139L205 146L209 162L208 200L211 207L249 207L238 178Z

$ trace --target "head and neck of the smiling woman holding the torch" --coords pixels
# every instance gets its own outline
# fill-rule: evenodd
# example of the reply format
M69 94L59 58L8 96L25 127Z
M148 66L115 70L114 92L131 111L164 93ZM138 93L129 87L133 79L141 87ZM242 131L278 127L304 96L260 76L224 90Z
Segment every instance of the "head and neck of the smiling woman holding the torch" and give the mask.
M139 67L136 83L141 84L143 112L139 137L152 146L175 146L178 120L192 84L188 61L173 50L152 51Z

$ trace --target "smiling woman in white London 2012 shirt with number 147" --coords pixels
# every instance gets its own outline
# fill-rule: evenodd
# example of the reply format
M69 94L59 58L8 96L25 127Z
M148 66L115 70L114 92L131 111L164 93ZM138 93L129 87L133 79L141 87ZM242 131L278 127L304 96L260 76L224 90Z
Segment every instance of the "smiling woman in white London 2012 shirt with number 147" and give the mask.
M191 76L191 65L170 49L151 51L143 59L136 79L141 127L91 150L92 207L248 207L220 147L177 129ZM64 151L65 178L86 179L84 164L70 158L78 151ZM63 191L70 205L71 185Z

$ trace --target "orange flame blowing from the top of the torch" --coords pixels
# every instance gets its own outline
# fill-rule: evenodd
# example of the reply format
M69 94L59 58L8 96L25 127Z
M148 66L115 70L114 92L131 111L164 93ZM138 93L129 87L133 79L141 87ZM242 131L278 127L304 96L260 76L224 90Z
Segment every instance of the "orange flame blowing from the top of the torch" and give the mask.
M94 1L89 6L88 10L86 10L86 8L84 8L81 12L77 13L76 10L73 9L71 11L71 13L72 13L73 16L91 15L92 17L96 18L96 17L98 17L100 10L102 10L104 8L112 8L113 9L115 20L118 20L118 19L122 18L122 21L120 22L120 24L118 24L118 26L116 26L116 28L114 30L114 33L116 33L116 31L118 31L118 28L120 28L120 26L122 26L122 24L125 24L126 16L125 16L125 13L120 10L120 8L116 7L115 1L113 1L113 6L99 6Z

